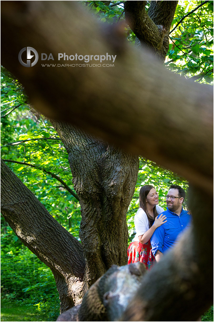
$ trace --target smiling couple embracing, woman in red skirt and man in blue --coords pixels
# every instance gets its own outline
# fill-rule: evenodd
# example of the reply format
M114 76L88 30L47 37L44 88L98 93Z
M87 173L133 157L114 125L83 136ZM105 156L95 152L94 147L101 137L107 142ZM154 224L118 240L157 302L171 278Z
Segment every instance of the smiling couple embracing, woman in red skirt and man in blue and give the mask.
M176 243L190 226L191 216L183 209L186 194L179 185L171 185L164 211L152 185L140 189L140 207L135 215L136 235L128 248L128 264L140 261L149 269Z

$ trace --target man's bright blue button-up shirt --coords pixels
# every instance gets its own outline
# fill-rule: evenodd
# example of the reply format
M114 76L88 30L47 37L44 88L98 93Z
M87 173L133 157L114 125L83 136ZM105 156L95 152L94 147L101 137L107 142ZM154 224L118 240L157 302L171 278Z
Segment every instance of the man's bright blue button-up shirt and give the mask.
M183 231L190 227L192 217L182 207L180 216L173 213L168 208L162 214L165 214L167 222L157 227L151 237L152 252L155 256L157 251L164 253L176 243ZM158 217L161 214L158 215Z

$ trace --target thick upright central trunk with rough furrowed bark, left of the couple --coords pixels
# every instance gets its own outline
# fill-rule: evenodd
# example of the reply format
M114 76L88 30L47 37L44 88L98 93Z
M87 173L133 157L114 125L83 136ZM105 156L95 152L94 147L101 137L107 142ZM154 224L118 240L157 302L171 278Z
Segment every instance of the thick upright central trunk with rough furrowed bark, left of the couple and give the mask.
M127 264L126 213L138 177L132 156L69 124L51 120L68 153L80 199L85 282L90 287L112 264Z

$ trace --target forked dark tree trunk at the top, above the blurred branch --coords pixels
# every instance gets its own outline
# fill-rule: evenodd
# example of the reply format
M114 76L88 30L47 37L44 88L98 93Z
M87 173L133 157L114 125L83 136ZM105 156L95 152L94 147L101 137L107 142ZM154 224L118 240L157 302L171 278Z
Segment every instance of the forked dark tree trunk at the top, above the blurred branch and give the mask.
M147 1L126 1L125 17L132 31L143 45L165 62L169 50L169 32L178 1L151 1L146 12Z

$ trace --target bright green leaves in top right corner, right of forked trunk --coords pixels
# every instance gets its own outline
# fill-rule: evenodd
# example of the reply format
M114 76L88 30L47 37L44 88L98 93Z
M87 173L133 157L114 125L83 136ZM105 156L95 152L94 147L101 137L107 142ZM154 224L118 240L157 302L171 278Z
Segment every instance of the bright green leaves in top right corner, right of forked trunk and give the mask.
M213 1L192 12L200 4L200 1L178 2L165 65L186 78L212 83ZM186 17L178 24L184 16Z

